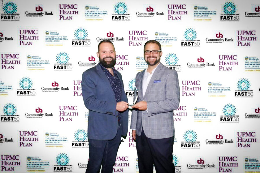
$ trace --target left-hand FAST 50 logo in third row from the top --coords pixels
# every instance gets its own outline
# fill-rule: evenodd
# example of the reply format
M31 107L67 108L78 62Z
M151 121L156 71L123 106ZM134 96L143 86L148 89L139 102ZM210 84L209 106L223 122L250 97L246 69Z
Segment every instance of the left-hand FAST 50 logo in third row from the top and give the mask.
M71 71L73 66L69 64L70 56L66 52L60 52L56 56L57 64L54 64L55 71Z

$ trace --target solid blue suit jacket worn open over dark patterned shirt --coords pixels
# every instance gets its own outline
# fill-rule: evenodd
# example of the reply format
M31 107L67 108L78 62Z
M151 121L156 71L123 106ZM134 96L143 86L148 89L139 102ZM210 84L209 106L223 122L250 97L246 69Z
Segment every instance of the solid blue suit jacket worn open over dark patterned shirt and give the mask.
M122 82L121 101L128 102L122 81L122 75L117 71ZM118 129L118 111L116 110L116 98L112 87L99 66L92 67L82 74L82 96L88 116L89 139L113 139ZM128 109L121 113L120 120L123 128L123 136L128 130Z

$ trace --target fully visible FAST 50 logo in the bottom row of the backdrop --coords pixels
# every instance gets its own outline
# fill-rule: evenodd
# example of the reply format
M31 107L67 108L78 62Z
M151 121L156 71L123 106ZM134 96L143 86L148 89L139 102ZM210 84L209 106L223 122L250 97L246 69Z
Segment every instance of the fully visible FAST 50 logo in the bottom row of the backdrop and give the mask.
M60 153L56 157L57 165L53 165L53 172L73 172L73 165L69 165L70 158L65 153Z

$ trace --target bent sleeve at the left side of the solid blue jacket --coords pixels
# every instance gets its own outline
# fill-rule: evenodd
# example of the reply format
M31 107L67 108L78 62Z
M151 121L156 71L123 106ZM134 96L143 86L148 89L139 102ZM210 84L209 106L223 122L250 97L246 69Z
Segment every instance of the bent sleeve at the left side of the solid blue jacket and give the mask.
M117 115L116 101L101 101L96 98L96 92L98 91L96 90L96 85L92 78L90 77L90 74L83 72L81 88L86 108L99 113Z

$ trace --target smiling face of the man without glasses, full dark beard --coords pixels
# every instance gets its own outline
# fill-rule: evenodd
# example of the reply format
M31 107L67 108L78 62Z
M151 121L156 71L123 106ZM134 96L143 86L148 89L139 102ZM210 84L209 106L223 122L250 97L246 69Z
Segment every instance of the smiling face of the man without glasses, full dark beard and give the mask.
M96 53L99 57L99 63L105 68L112 68L116 64L116 51L111 43L103 42L99 45Z

